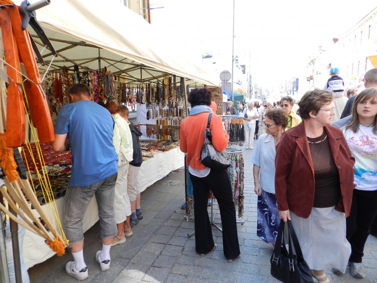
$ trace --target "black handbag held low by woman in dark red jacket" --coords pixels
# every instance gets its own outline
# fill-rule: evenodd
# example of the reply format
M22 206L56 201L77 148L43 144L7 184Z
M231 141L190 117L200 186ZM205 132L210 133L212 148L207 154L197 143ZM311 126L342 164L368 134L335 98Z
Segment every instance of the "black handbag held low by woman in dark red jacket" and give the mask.
M285 222L281 220L279 232L276 237L276 244L270 260L271 275L279 281L286 283L313 282L310 268L304 259L291 220L287 220L287 225L289 251L287 251L284 240ZM296 254L293 254L293 248L295 248Z

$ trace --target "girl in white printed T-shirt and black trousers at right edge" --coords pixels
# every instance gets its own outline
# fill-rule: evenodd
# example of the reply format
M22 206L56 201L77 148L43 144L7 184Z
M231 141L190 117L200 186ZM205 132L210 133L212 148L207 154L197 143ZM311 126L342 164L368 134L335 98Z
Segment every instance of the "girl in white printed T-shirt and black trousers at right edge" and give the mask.
M377 88L364 89L356 96L351 118L339 120L348 147L356 162L350 216L347 218L347 239L351 243L349 270L352 276L365 276L362 266L364 245L377 215ZM340 124L348 121L345 125ZM344 124L344 123L343 123ZM344 273L343 270L334 270Z

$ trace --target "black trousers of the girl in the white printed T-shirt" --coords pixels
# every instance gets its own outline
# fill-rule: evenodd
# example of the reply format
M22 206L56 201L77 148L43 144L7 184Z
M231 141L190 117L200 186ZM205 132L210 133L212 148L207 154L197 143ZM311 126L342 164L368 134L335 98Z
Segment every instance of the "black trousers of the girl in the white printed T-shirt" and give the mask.
M346 237L352 249L349 261L362 261L364 245L376 215L377 191L353 190L351 213L346 219Z

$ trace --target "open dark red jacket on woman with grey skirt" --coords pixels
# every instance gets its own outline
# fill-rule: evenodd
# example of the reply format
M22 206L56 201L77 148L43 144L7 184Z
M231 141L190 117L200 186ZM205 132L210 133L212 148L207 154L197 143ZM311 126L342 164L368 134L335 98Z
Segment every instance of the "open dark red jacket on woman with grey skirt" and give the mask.
M283 133L276 146L275 193L278 210L308 218L314 203L314 168L304 125L305 121ZM355 159L342 131L334 126L324 128L339 172L341 197L335 209L348 217L355 187Z

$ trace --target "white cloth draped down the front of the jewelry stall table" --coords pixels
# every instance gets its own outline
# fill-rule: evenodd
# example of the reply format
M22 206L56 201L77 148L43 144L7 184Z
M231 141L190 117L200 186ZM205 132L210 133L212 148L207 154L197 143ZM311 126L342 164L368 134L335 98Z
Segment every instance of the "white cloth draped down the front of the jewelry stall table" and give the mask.
M138 187L140 187L142 192L148 186L166 176L172 170L176 170L182 166L184 166L184 153L179 150L179 147L175 147L166 152L156 153L152 158L143 161L141 164ZM47 215L51 214L51 205L52 204L46 204L42 206ZM63 222L64 198L56 200L53 205L56 205L60 220ZM38 215L37 212L35 212L35 214ZM98 220L99 217L96 198L93 197L88 205L88 208L86 209L86 213L82 221L83 231L87 231ZM54 224L54 221L51 221L51 223ZM24 262L26 268L41 263L54 254L55 253L44 242L43 238L26 230L24 238Z

